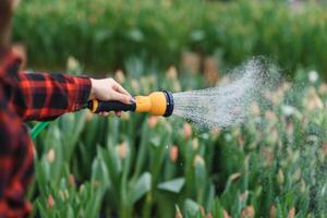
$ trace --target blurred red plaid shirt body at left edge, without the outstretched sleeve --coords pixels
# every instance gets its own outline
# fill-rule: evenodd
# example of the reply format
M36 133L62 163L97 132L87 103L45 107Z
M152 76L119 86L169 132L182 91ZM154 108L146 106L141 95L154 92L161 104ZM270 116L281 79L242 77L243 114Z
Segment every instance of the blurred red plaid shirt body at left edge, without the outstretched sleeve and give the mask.
M8 84L0 80L0 217L27 217L25 198L34 174L34 153L27 129L14 112Z

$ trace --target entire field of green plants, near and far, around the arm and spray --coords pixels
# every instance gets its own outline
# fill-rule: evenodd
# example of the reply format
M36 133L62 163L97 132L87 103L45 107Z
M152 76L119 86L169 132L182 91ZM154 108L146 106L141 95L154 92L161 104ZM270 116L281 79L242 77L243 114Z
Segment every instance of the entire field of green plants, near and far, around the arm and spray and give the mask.
M216 86L254 56L284 77L228 129L61 117L35 140L34 215L327 216L326 1L24 0L13 38L27 69L109 75L132 94Z

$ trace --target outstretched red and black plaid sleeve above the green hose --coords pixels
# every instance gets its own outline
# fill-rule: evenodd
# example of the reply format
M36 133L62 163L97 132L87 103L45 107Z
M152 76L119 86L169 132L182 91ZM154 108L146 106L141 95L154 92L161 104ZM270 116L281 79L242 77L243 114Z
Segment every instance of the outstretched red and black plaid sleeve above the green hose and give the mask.
M90 80L62 74L19 73L13 104L24 121L53 120L80 110L89 97Z

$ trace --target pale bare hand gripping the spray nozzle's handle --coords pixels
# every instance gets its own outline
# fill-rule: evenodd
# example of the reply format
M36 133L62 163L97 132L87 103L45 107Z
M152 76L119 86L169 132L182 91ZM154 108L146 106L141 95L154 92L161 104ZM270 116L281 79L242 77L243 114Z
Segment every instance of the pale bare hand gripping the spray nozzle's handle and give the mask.
M96 98L98 100L118 100L123 104L133 104L135 100L119 83L113 78L94 80L90 78L92 89L89 99ZM121 116L121 111L116 112ZM110 112L100 112L101 116L109 116Z

